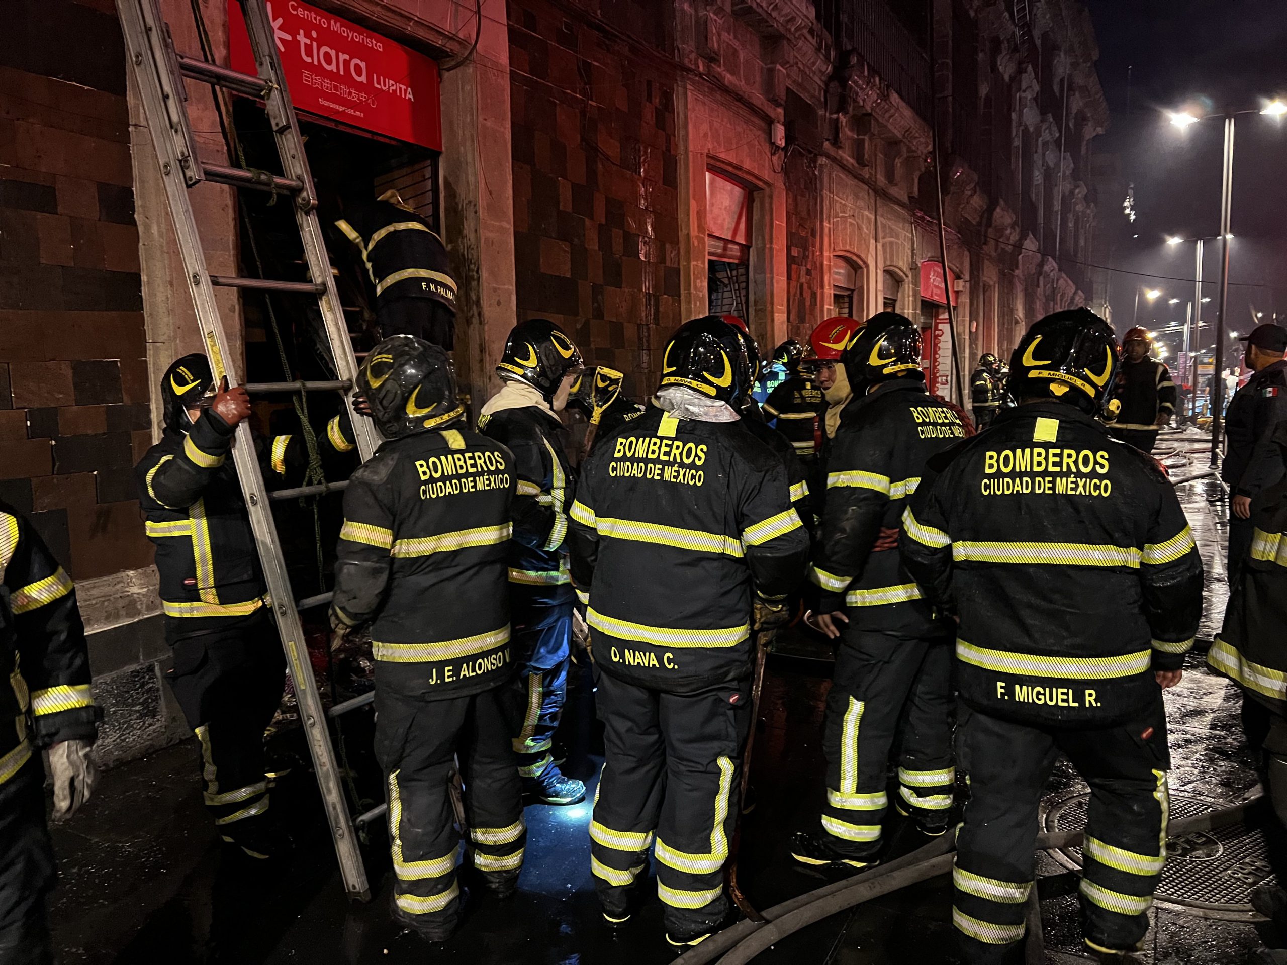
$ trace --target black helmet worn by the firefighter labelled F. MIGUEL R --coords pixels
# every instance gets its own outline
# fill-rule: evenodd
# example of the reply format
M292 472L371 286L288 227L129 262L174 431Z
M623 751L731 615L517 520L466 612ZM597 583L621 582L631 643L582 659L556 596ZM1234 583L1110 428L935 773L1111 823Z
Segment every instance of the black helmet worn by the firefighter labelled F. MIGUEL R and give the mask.
M1117 360L1111 324L1085 308L1057 311L1019 341L1005 390L1018 400L1059 399L1094 416L1112 387Z

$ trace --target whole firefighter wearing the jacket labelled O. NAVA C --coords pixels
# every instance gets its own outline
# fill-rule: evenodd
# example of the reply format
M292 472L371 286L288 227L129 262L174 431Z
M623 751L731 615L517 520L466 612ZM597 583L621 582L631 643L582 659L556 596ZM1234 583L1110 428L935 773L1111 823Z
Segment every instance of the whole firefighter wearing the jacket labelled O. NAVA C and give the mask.
M656 404L587 461L570 542L606 728L589 826L604 917L631 917L655 840L667 941L687 947L728 910L752 628L786 616L808 537L781 462L737 425L736 329L689 322L663 365Z

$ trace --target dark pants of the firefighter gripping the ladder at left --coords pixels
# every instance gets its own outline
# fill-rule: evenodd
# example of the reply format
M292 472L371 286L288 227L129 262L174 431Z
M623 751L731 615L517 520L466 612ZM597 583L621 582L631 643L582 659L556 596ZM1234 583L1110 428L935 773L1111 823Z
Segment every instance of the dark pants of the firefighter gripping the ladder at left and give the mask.
M282 703L286 657L266 610L232 618L223 629L181 636L166 618L174 648L167 679L201 746L206 808L228 840L263 825L268 812L264 731Z

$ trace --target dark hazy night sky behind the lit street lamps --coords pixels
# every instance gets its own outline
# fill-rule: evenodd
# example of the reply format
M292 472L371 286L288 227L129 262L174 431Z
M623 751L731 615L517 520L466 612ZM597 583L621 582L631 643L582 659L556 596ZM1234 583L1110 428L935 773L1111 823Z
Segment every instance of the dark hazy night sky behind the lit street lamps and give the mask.
M1127 226L1120 197L1099 198L1099 217L1124 230L1095 261L1111 268L1192 279L1194 246L1169 247L1163 235L1215 235L1220 229L1223 121L1185 130L1163 111L1194 113L1255 109L1287 100L1287 4L1283 0L1086 0L1099 42L1099 80L1108 98L1109 130L1093 142L1097 154L1117 153L1135 185L1136 220ZM1130 84L1127 84L1127 68ZM1129 111L1127 111L1129 99ZM1251 328L1251 310L1287 320L1287 121L1239 116L1234 140L1229 327ZM1133 237L1138 235L1138 237ZM1215 320L1220 244L1207 242L1203 295ZM1255 283L1252 287L1239 283ZM1118 332L1131 324L1138 286L1163 290L1153 310L1140 299L1139 320L1183 322L1193 283L1116 273L1111 299ZM1210 345L1211 336L1203 336ZM1172 353L1179 349L1174 341Z

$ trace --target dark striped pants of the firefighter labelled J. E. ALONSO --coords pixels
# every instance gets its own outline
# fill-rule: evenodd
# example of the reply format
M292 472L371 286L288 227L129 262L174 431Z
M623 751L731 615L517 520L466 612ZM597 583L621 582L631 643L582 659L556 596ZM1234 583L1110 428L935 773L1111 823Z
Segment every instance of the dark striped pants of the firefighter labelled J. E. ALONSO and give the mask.
M457 759L475 871L498 887L523 868L528 829L510 748L514 690L506 683L468 697L425 700L389 686L393 674L396 669L377 665L376 758L389 789L394 902L416 928L445 937L461 915L459 832L449 791Z

